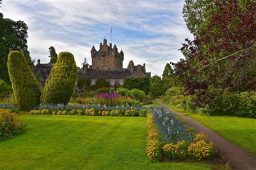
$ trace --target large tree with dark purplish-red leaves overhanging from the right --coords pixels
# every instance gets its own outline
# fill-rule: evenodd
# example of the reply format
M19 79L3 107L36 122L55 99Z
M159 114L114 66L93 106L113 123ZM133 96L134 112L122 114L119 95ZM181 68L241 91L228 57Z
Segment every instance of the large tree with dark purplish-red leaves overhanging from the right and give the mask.
M213 93L210 98L217 98L216 101L207 99L206 94L209 93L207 90L210 86L222 91L228 89L226 96L230 96L230 93L236 96L239 92L255 90L256 1L215 1L210 7L210 13L205 10L209 3L187 2L207 14L207 17L198 15L203 22L196 28L195 39L186 39L186 43L180 48L185 59L173 64L175 74L185 82L187 94L195 96L195 106L200 108L209 105L211 108L209 103L221 101L218 96L213 97ZM193 12L191 10L191 15ZM232 99L232 96L227 97L228 100ZM232 106L228 106L228 112L233 106L237 106L231 102ZM222 110L220 108L225 104L227 103L220 103L218 109Z

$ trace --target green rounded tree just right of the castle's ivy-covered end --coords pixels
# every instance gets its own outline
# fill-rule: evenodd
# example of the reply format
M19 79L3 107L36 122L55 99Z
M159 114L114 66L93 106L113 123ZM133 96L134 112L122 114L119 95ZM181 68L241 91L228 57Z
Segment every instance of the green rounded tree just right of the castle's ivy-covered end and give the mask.
M163 81L161 80L161 77L154 75L150 78L150 94L152 97L164 94Z

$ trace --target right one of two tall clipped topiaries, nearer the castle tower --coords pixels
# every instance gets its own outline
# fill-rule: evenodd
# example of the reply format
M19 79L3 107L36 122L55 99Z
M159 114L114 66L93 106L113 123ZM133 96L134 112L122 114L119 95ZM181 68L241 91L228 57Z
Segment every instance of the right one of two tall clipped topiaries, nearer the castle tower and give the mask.
M77 67L74 56L70 52L61 52L45 82L41 103L67 104L74 91L76 78Z

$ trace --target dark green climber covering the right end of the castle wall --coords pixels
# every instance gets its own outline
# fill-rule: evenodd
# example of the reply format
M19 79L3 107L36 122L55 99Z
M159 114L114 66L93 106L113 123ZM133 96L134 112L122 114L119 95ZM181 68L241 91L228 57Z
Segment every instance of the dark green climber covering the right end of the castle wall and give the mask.
M139 89L147 95L150 92L150 78L125 78L123 87L128 90Z

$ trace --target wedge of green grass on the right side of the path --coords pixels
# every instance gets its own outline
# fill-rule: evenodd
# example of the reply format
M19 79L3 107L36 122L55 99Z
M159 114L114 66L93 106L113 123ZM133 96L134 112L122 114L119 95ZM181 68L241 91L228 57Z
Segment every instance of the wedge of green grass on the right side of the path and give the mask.
M164 102L175 111L175 106L168 102ZM181 110L181 112L184 112ZM184 112L184 115L194 118L196 121L205 125L212 131L220 134L228 141L236 143L245 150L256 154L256 119L255 118L243 118L243 117L228 117L228 116L205 116L198 113Z

